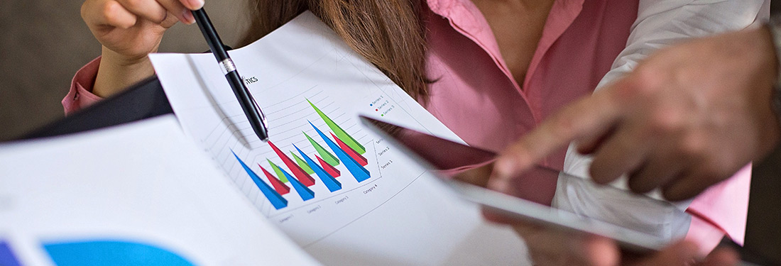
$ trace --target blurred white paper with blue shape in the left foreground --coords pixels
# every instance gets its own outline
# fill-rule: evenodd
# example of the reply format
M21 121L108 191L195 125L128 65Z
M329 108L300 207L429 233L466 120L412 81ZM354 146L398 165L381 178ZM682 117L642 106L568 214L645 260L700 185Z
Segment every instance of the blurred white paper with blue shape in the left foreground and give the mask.
M108 241L197 265L319 264L255 211L173 115L5 144L0 172L0 262L5 246L23 265L90 265L73 244ZM99 264L116 264L107 250L116 246L91 247L104 251Z

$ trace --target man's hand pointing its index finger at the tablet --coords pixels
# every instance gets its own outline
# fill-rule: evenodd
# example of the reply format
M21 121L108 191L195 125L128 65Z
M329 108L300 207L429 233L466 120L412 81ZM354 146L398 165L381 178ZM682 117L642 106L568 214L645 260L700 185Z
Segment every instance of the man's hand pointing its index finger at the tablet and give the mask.
M694 197L764 157L779 140L772 111L777 72L769 30L743 30L672 46L622 80L552 115L497 159L489 186L575 141L593 154L590 174L629 188Z

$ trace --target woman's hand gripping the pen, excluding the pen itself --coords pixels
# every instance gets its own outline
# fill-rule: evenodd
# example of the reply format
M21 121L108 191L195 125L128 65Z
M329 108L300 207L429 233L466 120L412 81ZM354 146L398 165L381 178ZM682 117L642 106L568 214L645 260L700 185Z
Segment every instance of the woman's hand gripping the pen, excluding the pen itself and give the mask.
M195 23L203 0L85 0L81 16L102 44L92 93L109 97L155 74L147 55L178 21Z

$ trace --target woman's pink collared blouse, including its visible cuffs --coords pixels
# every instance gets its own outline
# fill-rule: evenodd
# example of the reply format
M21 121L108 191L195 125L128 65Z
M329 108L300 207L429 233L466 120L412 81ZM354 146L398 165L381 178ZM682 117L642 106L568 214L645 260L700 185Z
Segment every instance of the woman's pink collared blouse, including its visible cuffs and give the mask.
M487 21L469 0L428 0L425 23L430 99L425 107L467 143L502 151L563 105L589 95L614 69L638 18L638 0L557 0L522 83L503 61ZM62 100L91 105L100 59L80 69ZM478 129L478 130L476 130ZM565 150L544 165L562 168ZM697 197L686 236L711 250L726 233L742 243L751 168ZM555 184L540 184L553 189Z

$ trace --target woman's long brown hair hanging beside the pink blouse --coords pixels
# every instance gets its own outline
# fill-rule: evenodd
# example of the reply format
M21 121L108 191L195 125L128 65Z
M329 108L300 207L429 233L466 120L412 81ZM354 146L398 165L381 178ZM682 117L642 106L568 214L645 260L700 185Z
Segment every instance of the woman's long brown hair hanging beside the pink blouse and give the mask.
M242 44L311 10L412 98L424 100L426 37L421 0L251 0Z

